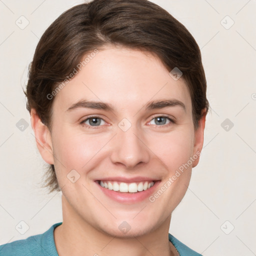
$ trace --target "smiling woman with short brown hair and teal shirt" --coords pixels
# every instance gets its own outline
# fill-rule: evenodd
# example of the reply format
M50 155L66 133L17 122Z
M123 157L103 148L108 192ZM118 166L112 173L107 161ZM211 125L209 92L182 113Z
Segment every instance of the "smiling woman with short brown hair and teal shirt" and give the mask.
M147 0L93 0L44 32L27 109L63 221L1 255L200 255L168 234L208 110L200 50Z

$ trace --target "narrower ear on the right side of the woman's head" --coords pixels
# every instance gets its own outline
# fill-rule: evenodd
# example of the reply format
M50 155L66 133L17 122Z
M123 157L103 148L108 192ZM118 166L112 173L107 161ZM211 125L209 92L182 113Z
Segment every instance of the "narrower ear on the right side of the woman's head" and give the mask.
M198 157L194 159L192 167L195 167L200 158L200 153L203 145L203 133L205 127L205 117L206 117L206 108L201 111L202 117L198 120L198 127L194 131L194 147L193 147L193 155L197 155Z

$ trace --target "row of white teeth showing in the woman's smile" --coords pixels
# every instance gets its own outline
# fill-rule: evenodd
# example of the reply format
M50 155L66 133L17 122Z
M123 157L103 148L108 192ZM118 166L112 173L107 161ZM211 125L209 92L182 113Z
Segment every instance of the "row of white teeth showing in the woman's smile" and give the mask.
M149 189L155 184L155 181L140 181L140 182L117 182L110 180L97 180L97 183L108 189L121 193L137 193Z

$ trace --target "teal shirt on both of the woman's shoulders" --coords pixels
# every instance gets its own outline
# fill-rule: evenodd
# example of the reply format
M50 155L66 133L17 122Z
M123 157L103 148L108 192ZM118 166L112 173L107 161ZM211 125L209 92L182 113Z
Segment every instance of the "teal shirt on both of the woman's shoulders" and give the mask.
M54 243L53 230L62 222L53 224L42 234L36 234L26 239L16 240L0 245L0 256L58 256ZM168 234L169 241L177 249L180 256L202 256L185 244Z

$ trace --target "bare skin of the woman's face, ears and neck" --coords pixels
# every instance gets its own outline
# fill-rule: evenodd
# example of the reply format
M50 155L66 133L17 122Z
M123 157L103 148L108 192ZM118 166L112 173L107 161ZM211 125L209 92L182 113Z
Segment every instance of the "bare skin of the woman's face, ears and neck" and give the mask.
M111 103L115 110L67 110L82 99ZM179 105L145 109L149 101L160 99L180 100L185 110ZM31 124L40 154L54 164L62 190L63 223L54 230L58 254L178 255L168 241L171 213L183 198L199 157L154 202L148 198L136 203L114 201L94 180L147 176L159 179L160 188L179 166L201 151L205 115L195 130L182 77L174 80L148 52L108 46L53 100L51 131L34 109ZM97 119L97 126L86 119L93 115L102 118ZM159 124L155 115L168 115L175 122L163 118ZM127 131L118 126L123 118L131 124ZM80 175L74 183L67 178L72 169ZM127 233L118 228L123 221L131 227Z

